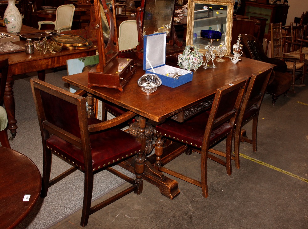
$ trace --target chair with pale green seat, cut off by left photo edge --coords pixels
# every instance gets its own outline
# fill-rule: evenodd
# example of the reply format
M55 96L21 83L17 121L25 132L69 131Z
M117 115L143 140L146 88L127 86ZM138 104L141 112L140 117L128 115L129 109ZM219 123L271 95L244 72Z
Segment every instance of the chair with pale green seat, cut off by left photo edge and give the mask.
M6 85L7 71L9 69L8 65L9 59L6 58L0 61L0 73L1 73L1 82L0 82L0 103L3 102L4 90ZM7 114L5 109L0 105L0 143L3 147L11 148L9 138L7 136Z

